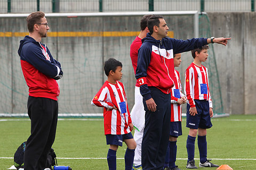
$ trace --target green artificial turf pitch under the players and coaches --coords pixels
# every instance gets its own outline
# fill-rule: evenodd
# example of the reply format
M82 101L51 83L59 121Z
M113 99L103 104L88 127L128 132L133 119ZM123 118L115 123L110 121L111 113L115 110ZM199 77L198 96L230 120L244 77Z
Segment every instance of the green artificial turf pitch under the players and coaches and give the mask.
M212 163L227 164L233 169L256 169L256 115L231 115L223 118L212 118L212 124L213 127L207 131L206 136L207 157L213 159ZM181 169L187 169L186 140L188 128L185 126L186 120L183 119L183 135L178 138L176 162L176 165ZM29 137L30 121L28 118L0 118L0 129L0 169L7 169L13 165L14 152ZM117 158L124 157L126 147L125 143L123 144L124 146L117 150ZM83 118L73 120L64 118L59 120L52 148L57 155L58 165L70 166L75 170L108 169L106 157L109 147L106 145L103 119L90 119L88 121ZM197 140L195 158L198 166ZM117 169L124 169L124 159L117 159Z

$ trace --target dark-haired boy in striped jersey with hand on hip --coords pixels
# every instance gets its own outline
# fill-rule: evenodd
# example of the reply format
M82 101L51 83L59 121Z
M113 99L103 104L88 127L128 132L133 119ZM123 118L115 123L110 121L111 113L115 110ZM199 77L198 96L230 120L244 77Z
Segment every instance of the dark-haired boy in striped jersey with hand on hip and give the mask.
M122 63L110 58L104 65L108 80L103 84L100 91L94 96L91 104L103 107L104 130L107 145L110 145L107 155L108 167L116 169L116 151L118 146L127 145L125 152L125 169L131 170L133 165L136 142L131 131L133 124L127 105L122 79Z

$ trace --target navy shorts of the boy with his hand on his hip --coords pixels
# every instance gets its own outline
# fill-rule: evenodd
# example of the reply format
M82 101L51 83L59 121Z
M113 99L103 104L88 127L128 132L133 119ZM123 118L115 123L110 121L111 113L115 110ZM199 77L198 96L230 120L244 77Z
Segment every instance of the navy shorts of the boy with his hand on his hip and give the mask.
M106 134L107 145L123 146L125 139L133 139L132 133L127 134Z

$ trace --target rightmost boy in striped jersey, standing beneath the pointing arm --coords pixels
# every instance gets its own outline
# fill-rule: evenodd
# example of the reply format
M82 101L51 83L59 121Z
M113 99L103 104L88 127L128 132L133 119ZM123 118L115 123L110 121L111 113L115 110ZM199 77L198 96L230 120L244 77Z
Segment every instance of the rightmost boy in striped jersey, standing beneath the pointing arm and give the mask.
M199 167L219 167L207 159L206 129L212 127L212 100L209 90L208 70L202 65L208 57L208 45L191 50L194 58L185 73L185 95L187 96L187 125L189 134L187 139L188 161L187 168L197 169L195 166L195 140L200 155Z

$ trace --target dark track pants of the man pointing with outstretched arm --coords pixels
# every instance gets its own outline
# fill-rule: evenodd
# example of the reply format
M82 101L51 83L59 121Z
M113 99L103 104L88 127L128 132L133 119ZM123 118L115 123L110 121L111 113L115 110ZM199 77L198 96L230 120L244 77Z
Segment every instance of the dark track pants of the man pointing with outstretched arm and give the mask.
M157 107L155 112L146 111L142 138L141 163L143 170L163 169L170 135L171 96L150 87L151 97ZM144 107L146 106L143 99Z

